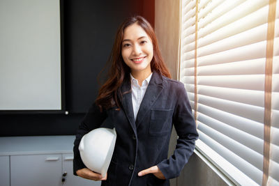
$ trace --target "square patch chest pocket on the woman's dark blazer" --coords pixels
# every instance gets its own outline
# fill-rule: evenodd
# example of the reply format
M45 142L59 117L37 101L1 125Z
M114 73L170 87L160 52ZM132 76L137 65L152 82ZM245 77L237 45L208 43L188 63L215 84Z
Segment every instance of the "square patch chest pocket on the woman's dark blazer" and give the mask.
M172 112L173 109L151 109L149 134L161 136L172 130Z

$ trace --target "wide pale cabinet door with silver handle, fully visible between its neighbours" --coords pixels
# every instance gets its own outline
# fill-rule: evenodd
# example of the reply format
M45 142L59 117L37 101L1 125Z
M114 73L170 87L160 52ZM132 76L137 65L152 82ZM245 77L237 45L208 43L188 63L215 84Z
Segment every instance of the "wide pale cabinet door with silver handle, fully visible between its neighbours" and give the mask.
M61 155L10 156L11 186L61 185Z

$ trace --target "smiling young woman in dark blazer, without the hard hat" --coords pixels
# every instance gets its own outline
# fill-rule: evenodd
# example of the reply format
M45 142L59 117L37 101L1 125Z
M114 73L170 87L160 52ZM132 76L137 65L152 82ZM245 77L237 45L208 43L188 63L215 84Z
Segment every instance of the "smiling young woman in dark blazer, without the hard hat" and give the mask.
M186 90L170 78L155 33L143 17L121 24L110 56L107 82L80 124L74 147L74 173L102 185L169 185L192 155L198 138ZM116 144L107 176L86 168L78 146L87 132L114 123ZM179 136L167 159L174 125Z

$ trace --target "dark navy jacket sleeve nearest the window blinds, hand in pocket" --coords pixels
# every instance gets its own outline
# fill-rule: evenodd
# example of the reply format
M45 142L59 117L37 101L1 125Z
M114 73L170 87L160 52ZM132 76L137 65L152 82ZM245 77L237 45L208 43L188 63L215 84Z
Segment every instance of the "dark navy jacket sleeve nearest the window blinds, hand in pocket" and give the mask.
M158 168L167 179L179 176L190 155L193 154L195 140L199 137L188 96L182 83L179 83L176 93L176 106L172 121L179 138L174 154L168 160L163 160L158 164Z

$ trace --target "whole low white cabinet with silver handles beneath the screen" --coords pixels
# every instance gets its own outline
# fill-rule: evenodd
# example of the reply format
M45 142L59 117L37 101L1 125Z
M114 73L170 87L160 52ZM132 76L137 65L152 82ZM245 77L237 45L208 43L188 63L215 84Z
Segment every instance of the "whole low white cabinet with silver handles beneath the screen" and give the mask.
M73 175L74 139L0 137L0 186L100 186Z

